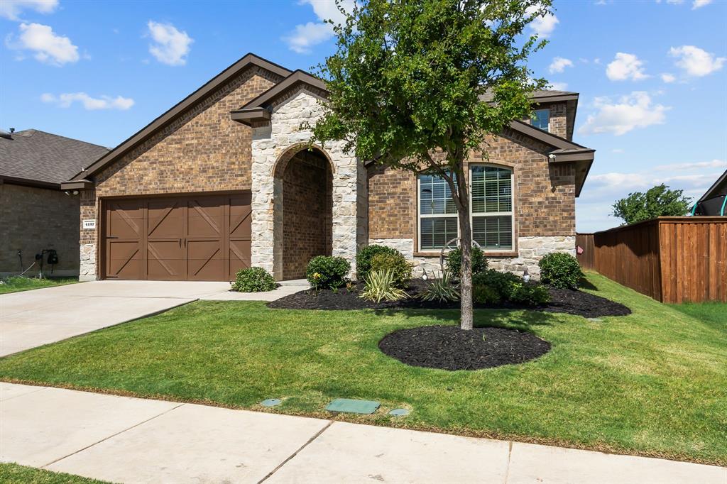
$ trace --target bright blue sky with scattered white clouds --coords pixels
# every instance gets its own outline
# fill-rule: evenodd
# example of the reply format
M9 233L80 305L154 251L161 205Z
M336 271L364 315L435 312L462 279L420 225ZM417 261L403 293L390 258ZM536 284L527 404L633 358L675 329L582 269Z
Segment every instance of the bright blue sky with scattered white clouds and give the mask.
M580 94L574 141L596 154L577 230L662 182L699 198L727 169L727 0L553 7L529 65ZM310 70L336 17L333 0L0 0L0 128L113 147L247 52Z

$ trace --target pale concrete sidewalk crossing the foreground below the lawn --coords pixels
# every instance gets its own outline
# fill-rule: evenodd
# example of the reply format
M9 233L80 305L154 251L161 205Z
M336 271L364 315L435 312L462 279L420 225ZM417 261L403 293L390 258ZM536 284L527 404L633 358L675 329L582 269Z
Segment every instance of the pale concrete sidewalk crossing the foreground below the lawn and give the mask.
M0 383L0 460L119 483L727 483L727 469Z

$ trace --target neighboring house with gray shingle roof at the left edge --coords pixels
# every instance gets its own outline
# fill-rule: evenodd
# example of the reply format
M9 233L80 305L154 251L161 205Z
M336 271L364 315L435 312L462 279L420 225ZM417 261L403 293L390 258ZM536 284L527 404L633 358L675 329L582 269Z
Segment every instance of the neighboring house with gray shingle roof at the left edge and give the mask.
M104 153L108 148L37 129L0 132L0 276L23 272L44 249L57 254L55 265L44 254L46 275L79 274L79 196L60 183Z

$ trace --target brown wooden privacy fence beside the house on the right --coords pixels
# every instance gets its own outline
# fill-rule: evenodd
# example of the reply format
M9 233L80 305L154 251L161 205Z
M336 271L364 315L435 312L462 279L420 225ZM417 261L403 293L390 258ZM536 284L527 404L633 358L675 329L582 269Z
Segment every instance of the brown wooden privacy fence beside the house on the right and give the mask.
M727 218L659 217L577 234L578 260L661 302L727 302Z

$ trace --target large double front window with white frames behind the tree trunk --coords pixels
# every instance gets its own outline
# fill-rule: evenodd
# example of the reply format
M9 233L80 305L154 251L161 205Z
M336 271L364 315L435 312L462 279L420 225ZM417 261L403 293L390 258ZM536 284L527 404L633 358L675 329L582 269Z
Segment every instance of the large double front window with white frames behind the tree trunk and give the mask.
M457 206L442 177L420 174L419 251L442 249L459 236ZM470 220L473 240L484 251L513 250L513 171L500 166L470 166Z

